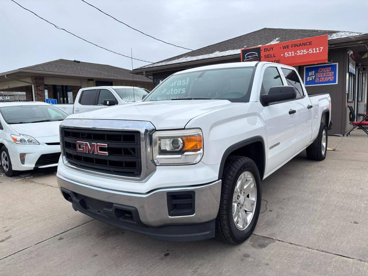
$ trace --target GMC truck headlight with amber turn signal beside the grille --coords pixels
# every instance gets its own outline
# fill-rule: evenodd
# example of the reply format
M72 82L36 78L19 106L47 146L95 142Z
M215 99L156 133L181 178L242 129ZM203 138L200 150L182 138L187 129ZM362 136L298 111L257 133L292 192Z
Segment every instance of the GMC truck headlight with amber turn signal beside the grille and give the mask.
M197 164L203 155L203 136L198 128L153 133L153 161L156 165Z

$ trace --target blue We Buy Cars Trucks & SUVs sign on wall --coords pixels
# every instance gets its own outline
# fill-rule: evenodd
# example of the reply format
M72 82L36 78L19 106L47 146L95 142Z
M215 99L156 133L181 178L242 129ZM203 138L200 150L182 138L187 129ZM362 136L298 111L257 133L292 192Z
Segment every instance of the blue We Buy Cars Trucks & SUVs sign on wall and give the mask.
M337 84L337 63L304 67L304 86Z

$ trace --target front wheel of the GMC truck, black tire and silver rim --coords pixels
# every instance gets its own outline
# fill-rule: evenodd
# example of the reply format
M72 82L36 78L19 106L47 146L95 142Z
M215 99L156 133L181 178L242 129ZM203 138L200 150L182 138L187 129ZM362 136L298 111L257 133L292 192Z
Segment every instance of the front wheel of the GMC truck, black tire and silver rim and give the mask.
M233 244L245 241L257 224L261 198L261 177L254 161L230 156L222 175L216 238Z

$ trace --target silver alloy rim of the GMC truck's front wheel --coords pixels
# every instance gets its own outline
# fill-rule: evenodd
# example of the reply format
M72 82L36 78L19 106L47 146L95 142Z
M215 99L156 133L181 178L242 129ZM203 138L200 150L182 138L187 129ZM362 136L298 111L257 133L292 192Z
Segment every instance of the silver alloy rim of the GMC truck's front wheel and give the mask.
M244 230L252 221L257 200L257 186L250 171L244 171L236 181L233 195L233 220L238 230Z

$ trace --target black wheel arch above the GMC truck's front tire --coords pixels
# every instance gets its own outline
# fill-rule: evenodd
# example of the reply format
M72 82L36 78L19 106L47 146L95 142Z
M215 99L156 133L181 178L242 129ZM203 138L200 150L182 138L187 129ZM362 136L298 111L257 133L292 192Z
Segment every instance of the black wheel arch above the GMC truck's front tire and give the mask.
M225 150L220 163L219 179L222 177L226 160L231 155L239 155L251 158L258 167L261 180L263 179L266 167L266 151L265 142L261 136L255 136L237 142Z

